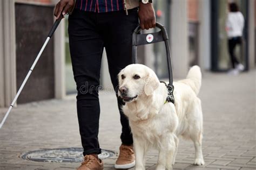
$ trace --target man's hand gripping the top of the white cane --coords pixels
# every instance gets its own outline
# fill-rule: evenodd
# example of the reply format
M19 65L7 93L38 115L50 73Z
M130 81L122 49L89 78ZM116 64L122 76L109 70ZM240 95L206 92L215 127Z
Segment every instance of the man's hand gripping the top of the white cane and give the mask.
M66 13L68 13L73 8L74 5L75 5L74 0L60 0L57 3L54 11L54 15L56 19L60 17L60 14L65 16Z

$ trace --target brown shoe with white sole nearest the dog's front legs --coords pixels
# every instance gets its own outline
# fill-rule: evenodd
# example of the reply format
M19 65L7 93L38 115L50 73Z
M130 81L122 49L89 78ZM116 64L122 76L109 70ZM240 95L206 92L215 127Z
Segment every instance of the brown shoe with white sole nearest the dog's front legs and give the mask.
M127 169L135 166L135 155L133 152L133 146L121 145L119 147L119 157L117 158L114 168Z

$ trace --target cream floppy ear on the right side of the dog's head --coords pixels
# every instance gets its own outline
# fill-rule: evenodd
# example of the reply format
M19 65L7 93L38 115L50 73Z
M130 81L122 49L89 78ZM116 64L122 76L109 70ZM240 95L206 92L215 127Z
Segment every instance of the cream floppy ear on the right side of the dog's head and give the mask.
M153 70L150 70L149 74L145 78L144 92L147 96L151 95L154 90L159 86L160 82L157 78L156 73Z

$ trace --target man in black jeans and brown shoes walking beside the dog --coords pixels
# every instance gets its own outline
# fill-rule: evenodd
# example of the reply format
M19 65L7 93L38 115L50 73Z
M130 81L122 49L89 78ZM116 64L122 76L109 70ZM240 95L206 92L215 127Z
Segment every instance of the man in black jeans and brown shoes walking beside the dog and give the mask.
M84 162L79 170L102 170L98 158L101 149L99 132L100 62L106 49L111 81L118 93L117 74L132 63L132 33L156 26L152 0L60 0L55 16L69 15L69 45L73 75L77 85L77 115L84 148ZM126 169L135 165L133 139L127 117L123 114L122 100L118 98L122 145L115 168ZM113 125L116 126L116 125Z

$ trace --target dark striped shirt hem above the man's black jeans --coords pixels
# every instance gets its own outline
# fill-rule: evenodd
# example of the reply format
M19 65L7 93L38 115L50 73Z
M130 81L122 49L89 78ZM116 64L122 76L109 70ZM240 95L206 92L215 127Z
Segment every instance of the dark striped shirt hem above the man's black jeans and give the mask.
M75 8L90 12L111 12L124 10L124 0L77 0Z

